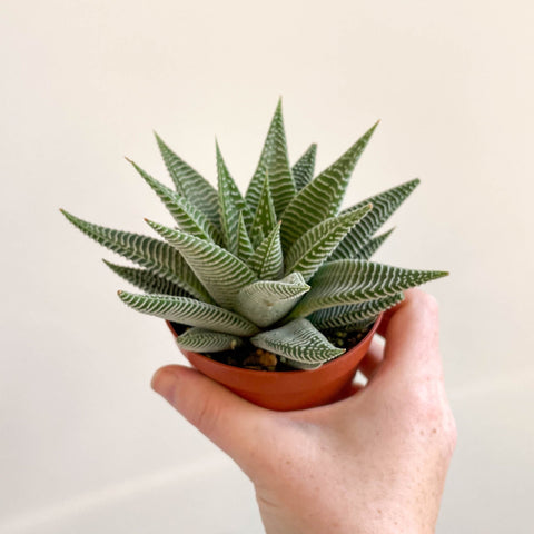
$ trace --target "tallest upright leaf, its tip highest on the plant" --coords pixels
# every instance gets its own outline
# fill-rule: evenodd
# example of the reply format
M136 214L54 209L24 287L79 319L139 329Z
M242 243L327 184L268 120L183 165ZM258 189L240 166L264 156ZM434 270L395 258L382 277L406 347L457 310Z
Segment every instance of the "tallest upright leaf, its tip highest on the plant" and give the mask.
M256 211L261 186L266 174L269 175L270 191L275 204L276 214L281 216L286 206L295 196L295 182L293 181L289 158L287 156L286 132L281 111L281 99L276 107L269 131L264 144L258 167L248 186L246 200L250 210Z

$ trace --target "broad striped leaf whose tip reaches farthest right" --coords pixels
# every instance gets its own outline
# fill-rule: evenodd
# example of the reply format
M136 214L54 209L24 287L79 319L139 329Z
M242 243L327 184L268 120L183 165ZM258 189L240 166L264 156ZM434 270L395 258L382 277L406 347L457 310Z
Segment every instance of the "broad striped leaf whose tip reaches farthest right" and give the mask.
M307 317L333 306L359 304L441 278L441 270L413 270L360 259L325 264L312 280L312 290L297 304L289 318Z

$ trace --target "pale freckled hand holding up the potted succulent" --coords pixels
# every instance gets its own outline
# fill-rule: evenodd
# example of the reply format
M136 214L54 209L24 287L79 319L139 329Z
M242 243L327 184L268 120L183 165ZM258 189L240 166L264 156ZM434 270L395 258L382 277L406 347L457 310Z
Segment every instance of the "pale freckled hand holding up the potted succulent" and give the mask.
M328 406L259 408L178 365L152 387L248 475L267 534L429 534L456 443L436 300L406 291L379 334L367 385Z

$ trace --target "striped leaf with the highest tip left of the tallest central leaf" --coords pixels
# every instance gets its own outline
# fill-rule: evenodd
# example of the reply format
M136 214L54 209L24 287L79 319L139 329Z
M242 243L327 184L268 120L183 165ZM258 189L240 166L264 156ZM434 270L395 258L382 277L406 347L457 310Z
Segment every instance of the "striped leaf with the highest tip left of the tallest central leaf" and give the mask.
M157 134L155 136L176 190L204 211L214 226L219 227L219 202L214 186L177 156Z

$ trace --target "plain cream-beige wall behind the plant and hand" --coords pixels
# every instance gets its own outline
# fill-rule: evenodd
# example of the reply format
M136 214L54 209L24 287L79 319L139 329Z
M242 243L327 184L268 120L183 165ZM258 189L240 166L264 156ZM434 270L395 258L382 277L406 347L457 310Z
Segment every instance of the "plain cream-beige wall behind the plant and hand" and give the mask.
M0 16L0 532L259 533L248 481L154 395L180 362L58 207L132 230L164 208L151 130L241 187L279 95L295 160L376 119L349 201L418 176L379 259L446 268L459 442L439 533L532 532L532 2L11 1Z

